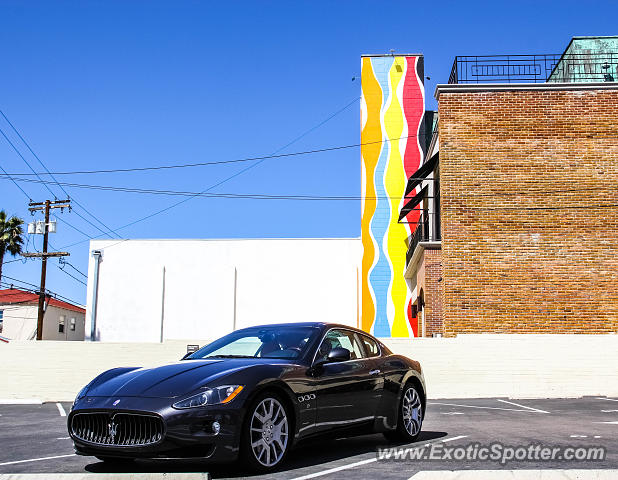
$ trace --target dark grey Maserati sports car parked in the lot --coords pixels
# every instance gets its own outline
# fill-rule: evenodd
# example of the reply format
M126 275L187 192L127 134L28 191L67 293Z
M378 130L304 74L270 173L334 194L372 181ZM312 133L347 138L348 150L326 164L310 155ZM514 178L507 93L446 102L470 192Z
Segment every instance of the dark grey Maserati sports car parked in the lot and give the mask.
M68 429L76 453L104 461L241 455L264 471L312 436L413 441L425 398L419 363L371 335L329 323L266 325L170 365L102 373L79 392Z

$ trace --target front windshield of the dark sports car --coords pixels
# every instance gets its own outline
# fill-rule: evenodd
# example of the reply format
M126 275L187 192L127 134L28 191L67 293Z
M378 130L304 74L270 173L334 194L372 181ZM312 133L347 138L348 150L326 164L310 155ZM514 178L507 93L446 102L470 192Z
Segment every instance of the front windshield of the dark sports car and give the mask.
M256 327L230 333L200 348L187 359L300 358L317 337L316 327Z

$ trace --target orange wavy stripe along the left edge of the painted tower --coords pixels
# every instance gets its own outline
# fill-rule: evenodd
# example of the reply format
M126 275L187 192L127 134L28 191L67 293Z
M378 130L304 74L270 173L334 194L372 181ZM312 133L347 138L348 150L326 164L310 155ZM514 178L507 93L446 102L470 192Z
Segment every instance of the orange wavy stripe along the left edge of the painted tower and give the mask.
M376 79L370 58L363 58L361 65L362 94L367 105L367 122L361 131L361 144L379 142L382 139L380 127L380 108L382 106L382 89ZM374 185L374 173L380 156L380 143L372 143L361 146L361 157L365 170L365 201L361 216L361 242L363 244L362 260L362 316L361 328L369 332L376 315L376 307L371 295L369 285L369 270L375 260L375 247L371 238L370 222L376 211L376 187Z

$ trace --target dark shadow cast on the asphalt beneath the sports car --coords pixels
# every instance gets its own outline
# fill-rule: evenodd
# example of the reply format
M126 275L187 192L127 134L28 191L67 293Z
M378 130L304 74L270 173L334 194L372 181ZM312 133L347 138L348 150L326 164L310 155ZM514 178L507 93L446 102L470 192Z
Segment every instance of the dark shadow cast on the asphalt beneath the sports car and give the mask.
M299 443L289 452L286 461L277 469L277 472L315 467L349 457L375 453L378 448L385 446L422 445L447 435L447 432L422 431L418 440L411 444L388 442L381 434L341 439L320 438L307 440ZM258 474L247 471L240 462L217 464L195 460L137 460L118 465L97 462L86 465L85 469L91 473L209 472L212 478L258 476Z

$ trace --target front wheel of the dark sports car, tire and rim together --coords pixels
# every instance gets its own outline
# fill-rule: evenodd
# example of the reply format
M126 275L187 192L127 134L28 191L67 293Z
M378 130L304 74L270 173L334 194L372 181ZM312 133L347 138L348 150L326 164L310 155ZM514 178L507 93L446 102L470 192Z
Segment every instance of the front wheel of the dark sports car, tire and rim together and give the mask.
M241 455L252 470L269 472L283 463L290 449L290 413L276 393L259 395L247 409Z

